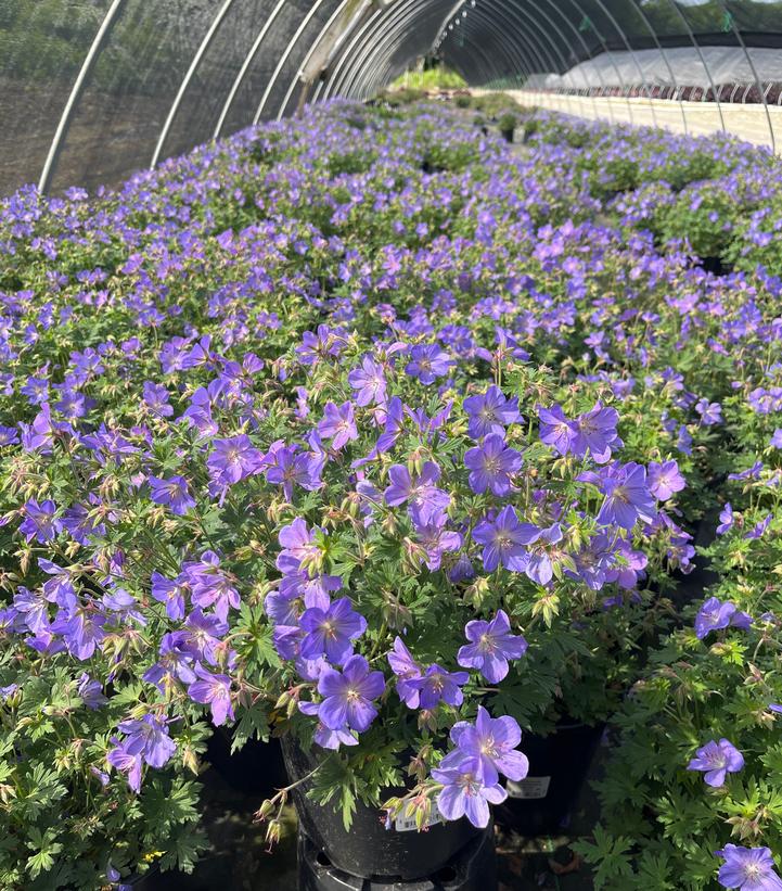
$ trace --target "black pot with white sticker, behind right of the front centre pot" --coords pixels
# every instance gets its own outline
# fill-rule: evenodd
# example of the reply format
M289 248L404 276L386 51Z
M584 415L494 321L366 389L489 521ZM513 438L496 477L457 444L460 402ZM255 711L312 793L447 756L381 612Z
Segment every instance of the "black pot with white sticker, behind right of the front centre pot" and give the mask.
M522 836L546 836L563 827L589 773L603 725L561 724L541 737L525 734L521 749L529 774L507 784L508 799L495 809L498 825Z

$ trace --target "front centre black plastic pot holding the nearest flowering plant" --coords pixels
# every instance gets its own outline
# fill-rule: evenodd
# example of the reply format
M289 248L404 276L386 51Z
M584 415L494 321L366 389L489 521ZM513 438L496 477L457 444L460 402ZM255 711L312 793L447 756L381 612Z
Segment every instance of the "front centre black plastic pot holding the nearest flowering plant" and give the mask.
M318 764L313 753L303 751L289 737L283 739L282 751L291 781L302 779ZM384 814L361 802L357 802L350 831L346 832L342 814L307 799L306 789L307 784L303 784L292 792L302 831L337 871L360 879L381 882L425 879L448 866L482 835L480 829L464 818L437 823L425 832L386 829ZM388 789L388 797L403 791Z

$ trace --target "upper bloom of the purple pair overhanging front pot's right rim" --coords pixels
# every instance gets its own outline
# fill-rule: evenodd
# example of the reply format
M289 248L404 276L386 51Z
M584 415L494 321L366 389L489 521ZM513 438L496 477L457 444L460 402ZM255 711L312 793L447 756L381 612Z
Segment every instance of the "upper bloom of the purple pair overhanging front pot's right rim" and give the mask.
M478 705L475 725L466 721L453 725L451 741L457 748L443 759L440 769L459 767L465 761L477 762L483 775L491 776L493 771L514 782L529 772L527 756L516 750L522 741L518 724L508 715L491 717L483 705Z

